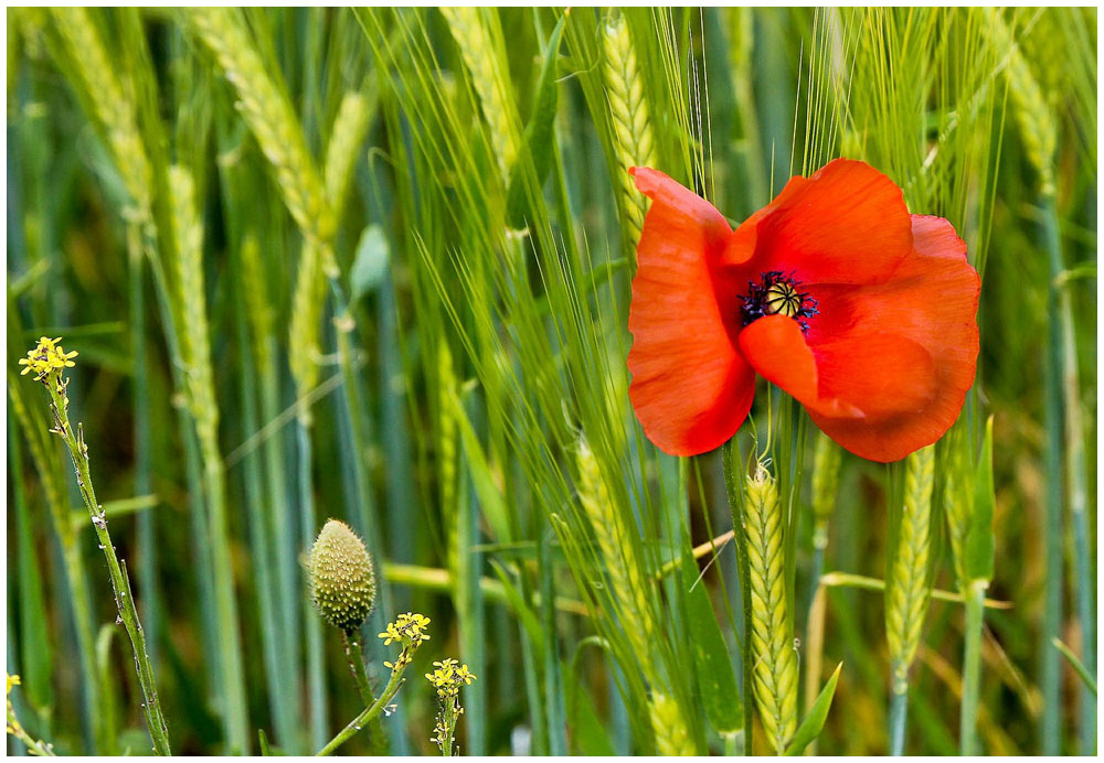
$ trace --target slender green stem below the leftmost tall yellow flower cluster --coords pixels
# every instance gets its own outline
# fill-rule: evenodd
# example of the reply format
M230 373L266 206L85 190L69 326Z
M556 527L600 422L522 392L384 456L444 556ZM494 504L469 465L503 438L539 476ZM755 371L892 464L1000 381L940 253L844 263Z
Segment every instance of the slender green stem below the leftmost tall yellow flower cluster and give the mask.
M146 652L146 635L142 632L141 622L138 619L138 610L135 606L134 594L130 592L130 582L126 572L119 565L115 555L115 546L112 545L112 536L107 531L107 519L104 512L96 502L96 492L92 486L92 472L88 468L88 448L84 443L84 433L76 431L70 426L68 419L68 397L65 393L65 385L60 375L53 375L46 379L46 388L53 402L54 430L65 445L68 448L70 458L73 460L73 468L76 470L77 487L84 505L92 516L92 524L96 528L96 536L99 538L99 546L107 558L107 569L112 577L112 588L115 592L115 603L118 605L119 617L130 636L130 644L134 646L135 667L138 671L138 683L141 684L142 712L146 714L146 726L149 727L149 734L153 741L153 751L159 755L172 754L169 748L169 731L164 723L164 714L161 712L161 705L157 698L157 683L153 678L153 667Z

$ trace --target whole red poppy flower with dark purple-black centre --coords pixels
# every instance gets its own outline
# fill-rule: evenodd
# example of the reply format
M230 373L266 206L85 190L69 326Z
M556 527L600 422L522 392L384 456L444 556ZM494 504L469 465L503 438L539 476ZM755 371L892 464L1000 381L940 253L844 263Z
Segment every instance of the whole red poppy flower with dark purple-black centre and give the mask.
M672 455L718 448L751 409L758 374L847 450L895 461L962 410L978 353L980 279L941 217L910 215L869 164L794 178L735 230L661 172L628 327L629 397Z

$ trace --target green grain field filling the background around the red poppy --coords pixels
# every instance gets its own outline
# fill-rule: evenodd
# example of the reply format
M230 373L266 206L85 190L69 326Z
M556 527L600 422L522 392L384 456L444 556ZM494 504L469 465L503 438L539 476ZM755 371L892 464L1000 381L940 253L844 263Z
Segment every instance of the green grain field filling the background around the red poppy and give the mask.
M1096 28L8 9L9 753L1095 754ZM981 276L958 422L666 455L628 168L839 157Z

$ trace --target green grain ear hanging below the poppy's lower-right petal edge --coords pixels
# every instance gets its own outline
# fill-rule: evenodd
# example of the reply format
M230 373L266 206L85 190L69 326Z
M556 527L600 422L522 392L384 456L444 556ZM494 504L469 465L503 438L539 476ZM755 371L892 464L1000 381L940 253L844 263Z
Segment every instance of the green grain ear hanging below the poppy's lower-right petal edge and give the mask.
M935 445L909 456L896 549L885 583L885 637L893 667L892 688L899 695L909 690L909 667L916 657L927 614L934 476Z

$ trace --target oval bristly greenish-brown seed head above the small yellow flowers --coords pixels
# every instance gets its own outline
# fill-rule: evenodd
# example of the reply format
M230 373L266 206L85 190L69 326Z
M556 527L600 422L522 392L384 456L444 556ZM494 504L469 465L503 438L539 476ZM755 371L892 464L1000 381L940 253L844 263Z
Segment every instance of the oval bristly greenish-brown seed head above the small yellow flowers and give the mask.
M351 633L375 604L375 572L364 542L349 526L330 519L318 534L307 562L310 597L322 620Z

